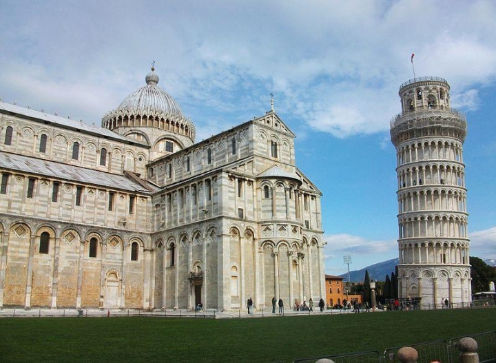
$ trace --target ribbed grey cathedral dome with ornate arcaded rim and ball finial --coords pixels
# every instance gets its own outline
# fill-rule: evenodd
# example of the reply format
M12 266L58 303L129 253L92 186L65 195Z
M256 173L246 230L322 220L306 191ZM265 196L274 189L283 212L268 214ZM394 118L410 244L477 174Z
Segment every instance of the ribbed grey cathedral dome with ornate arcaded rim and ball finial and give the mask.
M115 110L102 118L102 127L157 127L178 132L194 141L195 127L180 110L174 98L158 87L159 77L152 67L146 77L146 85L124 98Z

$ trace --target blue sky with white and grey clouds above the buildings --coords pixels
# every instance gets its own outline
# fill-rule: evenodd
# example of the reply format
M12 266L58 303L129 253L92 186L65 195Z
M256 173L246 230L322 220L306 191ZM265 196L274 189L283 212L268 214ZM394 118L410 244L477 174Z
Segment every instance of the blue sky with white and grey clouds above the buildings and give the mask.
M496 1L0 0L0 98L101 124L158 85L196 141L270 110L322 191L325 271L397 258L398 90L451 85L464 143L471 256L496 259ZM413 64L411 54L414 53Z

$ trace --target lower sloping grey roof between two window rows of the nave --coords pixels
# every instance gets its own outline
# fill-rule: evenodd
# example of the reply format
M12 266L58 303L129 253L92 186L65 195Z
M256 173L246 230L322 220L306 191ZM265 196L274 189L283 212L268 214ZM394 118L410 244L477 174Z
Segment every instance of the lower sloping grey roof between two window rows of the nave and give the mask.
M75 183L95 185L96 187L136 191L143 194L149 194L150 190L158 190L158 188L149 183L149 188L145 188L131 178L123 175L99 172L98 170L87 169L85 167L56 163L54 161L7 152L0 152L0 168L45 176L47 178L70 180Z

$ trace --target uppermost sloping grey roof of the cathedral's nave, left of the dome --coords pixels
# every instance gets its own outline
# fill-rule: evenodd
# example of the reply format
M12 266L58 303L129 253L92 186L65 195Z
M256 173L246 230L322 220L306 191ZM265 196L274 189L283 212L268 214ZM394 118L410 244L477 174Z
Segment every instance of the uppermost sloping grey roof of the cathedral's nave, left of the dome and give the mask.
M83 121L74 121L71 120L70 118L64 118L61 116L47 114L46 112L43 111L32 110L30 108L21 107L18 105L12 105L11 103L5 103L3 101L0 101L0 113L18 114L29 118L34 118L35 121L44 121L43 123L52 123L59 127L63 127L65 129L74 129L78 132L92 134L100 137L112 138L114 140L128 144L129 143L140 144L136 140L116 134L115 132L110 131L110 129L104 129L102 127L95 125L88 125Z

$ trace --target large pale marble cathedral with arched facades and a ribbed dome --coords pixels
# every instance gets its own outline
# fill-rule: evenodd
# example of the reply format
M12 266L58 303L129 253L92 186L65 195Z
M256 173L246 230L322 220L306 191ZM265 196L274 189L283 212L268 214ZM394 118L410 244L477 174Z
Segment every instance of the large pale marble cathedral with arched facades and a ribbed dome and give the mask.
M325 298L322 193L273 104L195 143L145 81L101 127L0 99L0 308Z

